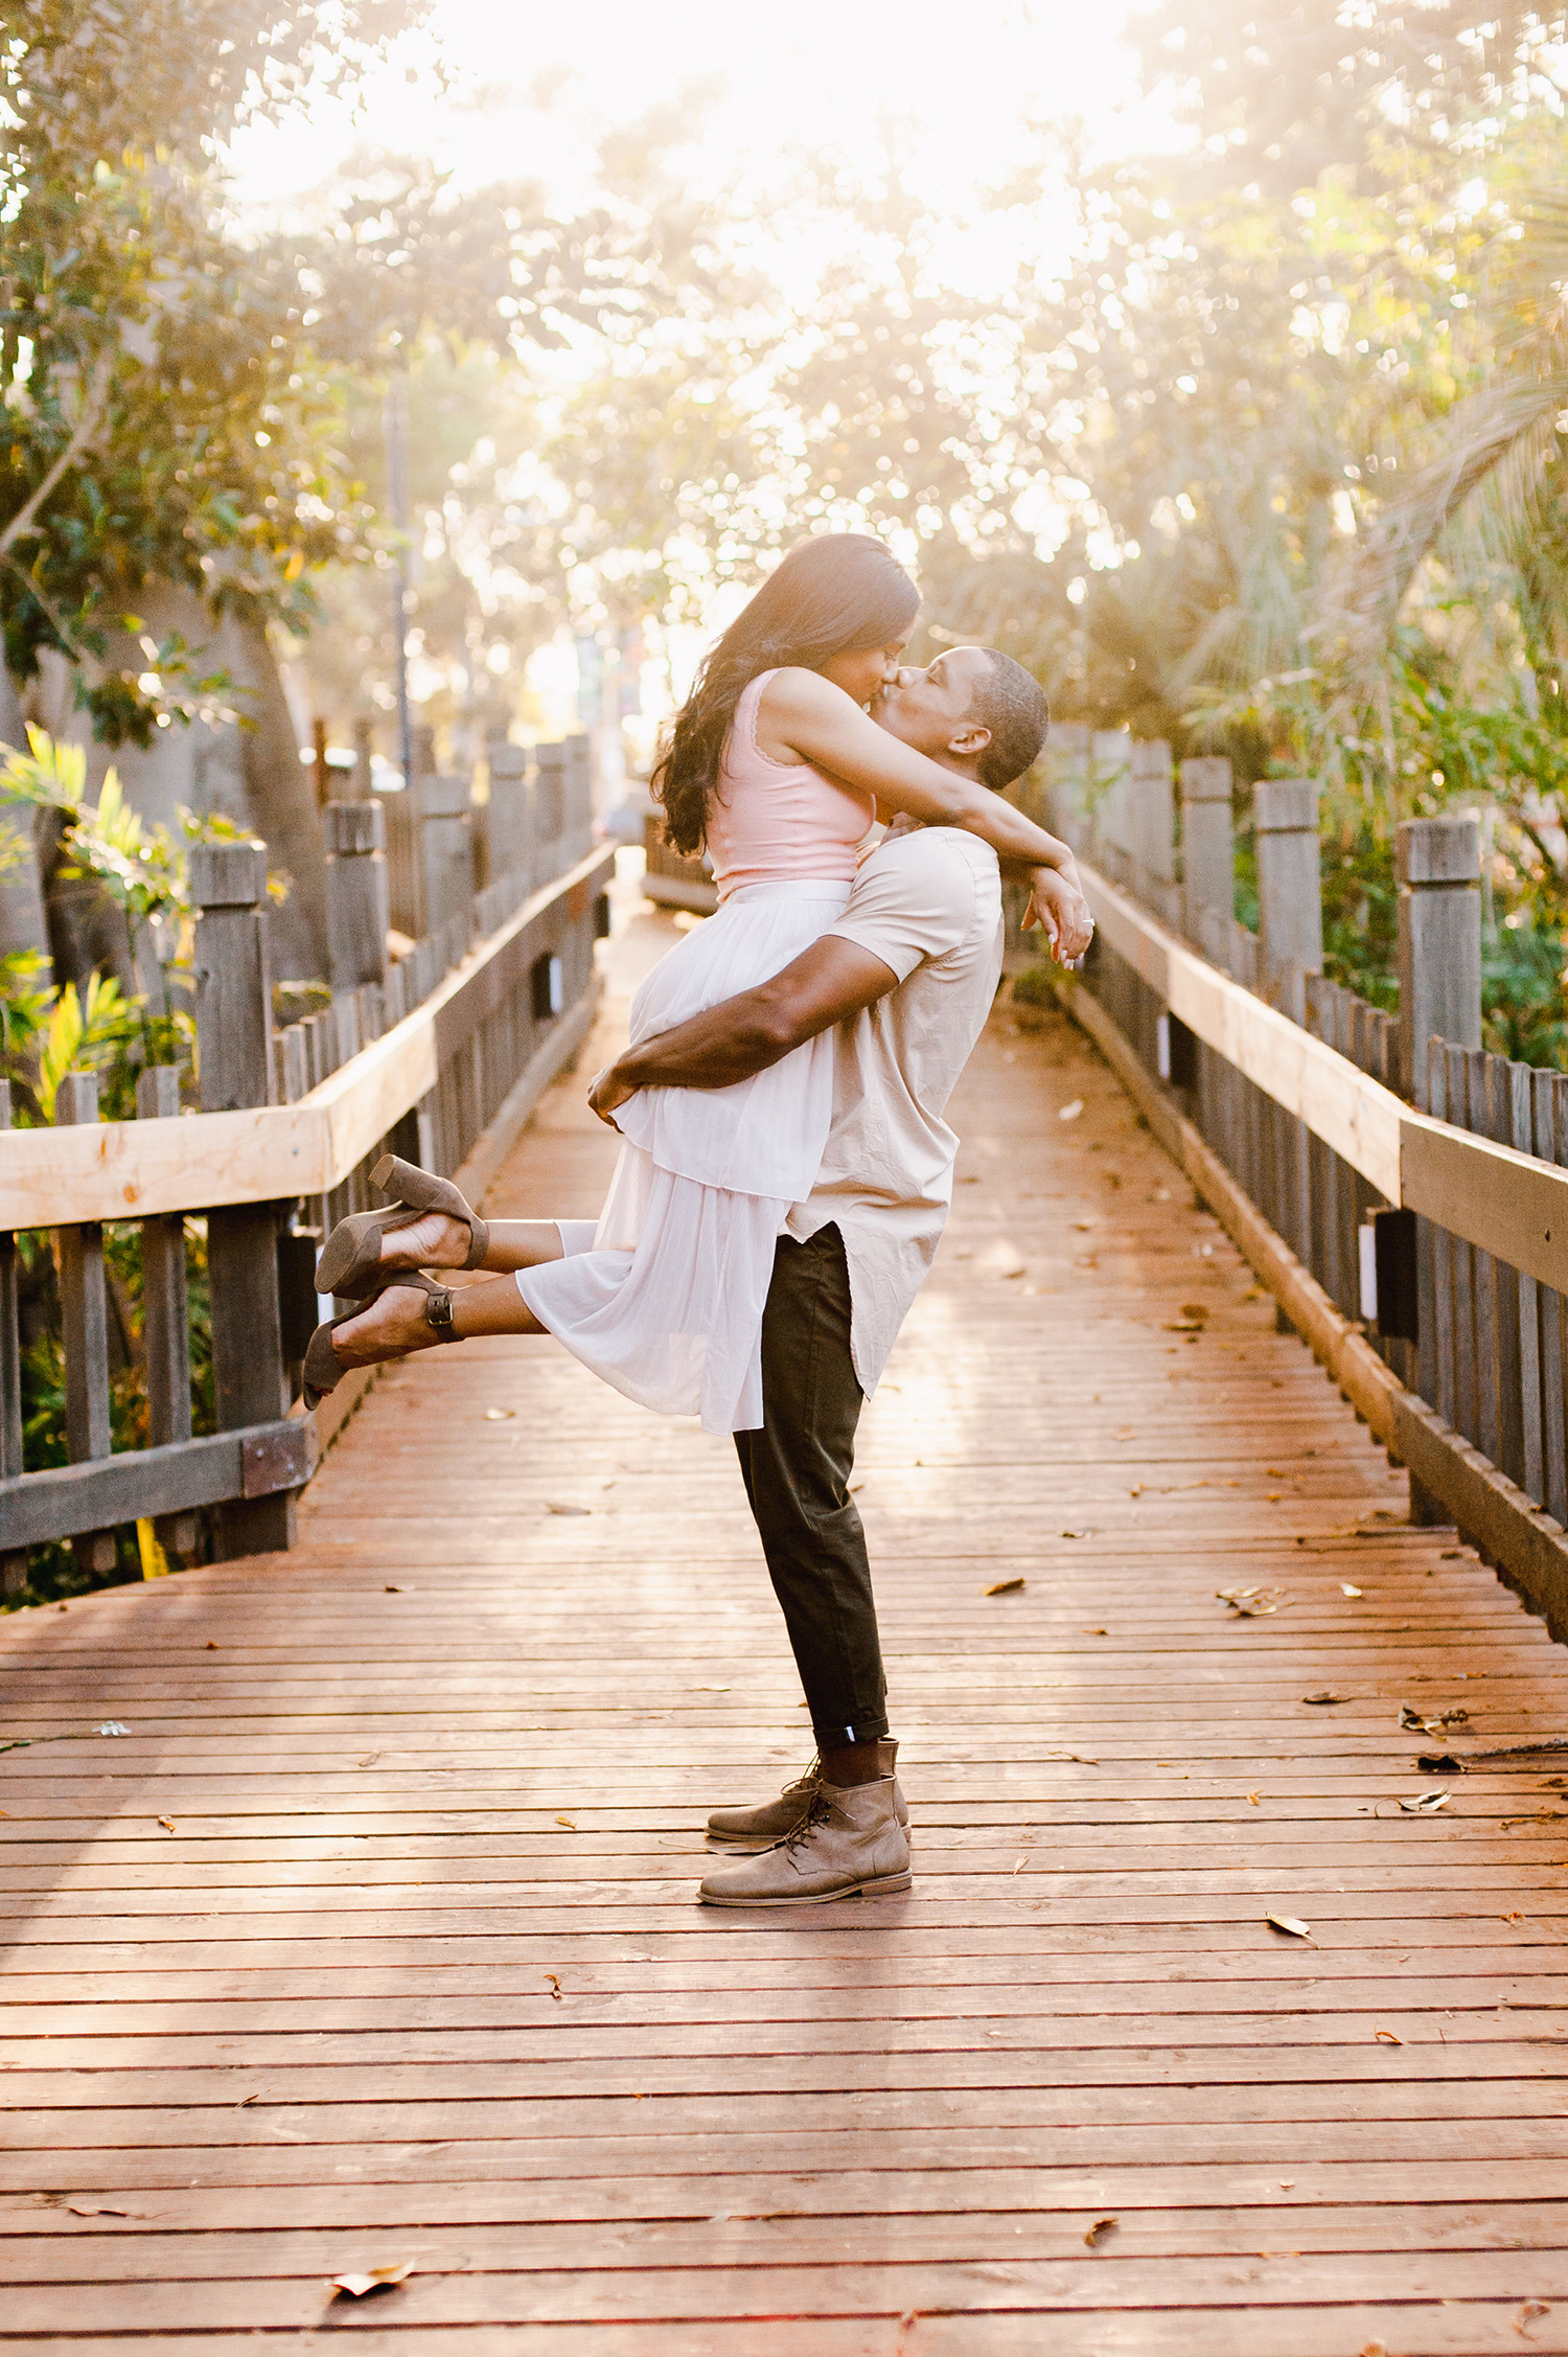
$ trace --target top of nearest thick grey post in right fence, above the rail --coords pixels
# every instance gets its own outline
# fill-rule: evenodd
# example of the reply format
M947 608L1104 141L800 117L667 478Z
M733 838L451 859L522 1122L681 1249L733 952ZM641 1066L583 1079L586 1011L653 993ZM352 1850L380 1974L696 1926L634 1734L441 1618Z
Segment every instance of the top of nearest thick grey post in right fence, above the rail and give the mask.
M1427 1110L1427 1042L1481 1047L1481 827L1474 818L1405 818L1394 839L1398 882L1398 1070Z

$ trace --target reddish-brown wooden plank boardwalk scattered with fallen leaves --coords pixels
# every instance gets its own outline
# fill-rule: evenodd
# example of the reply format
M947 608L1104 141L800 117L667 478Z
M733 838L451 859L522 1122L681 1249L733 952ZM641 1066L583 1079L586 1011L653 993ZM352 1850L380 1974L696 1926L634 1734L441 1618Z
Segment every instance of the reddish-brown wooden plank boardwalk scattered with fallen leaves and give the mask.
M490 1209L594 1209L580 1098ZM693 1904L804 1711L729 1447L547 1343L394 1372L295 1553L0 1626L2 2350L1568 2350L1568 1761L1415 1765L1568 1655L1066 1025L955 1113L861 1454L908 1897Z

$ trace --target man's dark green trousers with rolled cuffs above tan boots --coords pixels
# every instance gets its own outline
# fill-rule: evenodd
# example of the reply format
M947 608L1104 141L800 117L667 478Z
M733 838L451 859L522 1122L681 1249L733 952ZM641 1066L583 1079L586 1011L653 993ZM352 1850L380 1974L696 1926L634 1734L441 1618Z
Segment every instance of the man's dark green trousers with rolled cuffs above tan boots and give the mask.
M736 1433L818 1747L887 1735L865 1532L849 1497L861 1421L837 1228L780 1235L762 1318L762 1431Z

